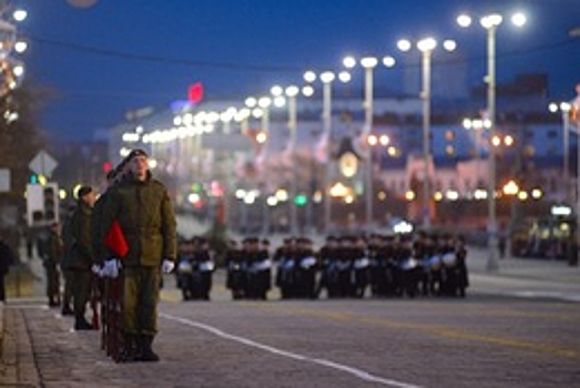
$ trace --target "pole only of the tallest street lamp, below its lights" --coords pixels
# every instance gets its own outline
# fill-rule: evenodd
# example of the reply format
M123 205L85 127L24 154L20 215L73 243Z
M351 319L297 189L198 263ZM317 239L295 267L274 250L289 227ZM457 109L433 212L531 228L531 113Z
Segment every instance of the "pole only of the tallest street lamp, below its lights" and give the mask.
M497 257L498 236L496 219L496 150L492 140L496 136L496 29L497 25L489 25L487 29L487 105L489 119L489 163L488 163L488 251L489 256L486 265L488 272L498 272L499 263Z

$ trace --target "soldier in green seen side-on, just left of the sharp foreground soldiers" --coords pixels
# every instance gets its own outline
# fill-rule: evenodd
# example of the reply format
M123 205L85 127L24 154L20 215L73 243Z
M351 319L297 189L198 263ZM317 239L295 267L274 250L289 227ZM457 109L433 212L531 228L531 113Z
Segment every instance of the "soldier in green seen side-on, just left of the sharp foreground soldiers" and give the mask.
M70 236L70 264L72 274L72 298L74 309L74 329L90 330L92 325L85 319L87 303L91 295L91 266L93 252L91 243L91 214L95 195L90 186L82 186L77 192L74 210L67 234Z

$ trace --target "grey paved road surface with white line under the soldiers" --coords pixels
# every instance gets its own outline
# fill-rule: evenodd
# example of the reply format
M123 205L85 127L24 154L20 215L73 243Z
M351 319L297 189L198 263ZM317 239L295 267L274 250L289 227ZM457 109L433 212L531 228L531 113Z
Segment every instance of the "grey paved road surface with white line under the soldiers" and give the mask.
M467 298L181 302L166 278L156 364L21 308L44 387L580 387L578 304Z

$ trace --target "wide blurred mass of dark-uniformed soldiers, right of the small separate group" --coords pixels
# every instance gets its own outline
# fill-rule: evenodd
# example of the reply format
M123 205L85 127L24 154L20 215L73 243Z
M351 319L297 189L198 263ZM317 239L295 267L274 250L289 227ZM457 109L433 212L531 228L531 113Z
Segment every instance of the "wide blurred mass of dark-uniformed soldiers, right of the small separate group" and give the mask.
M281 298L315 299L460 296L469 286L461 236L419 232L405 235L328 236L316 252L305 237L284 239L271 255L267 241L231 242L226 287L234 299L266 299L274 285ZM272 259L271 259L272 257Z

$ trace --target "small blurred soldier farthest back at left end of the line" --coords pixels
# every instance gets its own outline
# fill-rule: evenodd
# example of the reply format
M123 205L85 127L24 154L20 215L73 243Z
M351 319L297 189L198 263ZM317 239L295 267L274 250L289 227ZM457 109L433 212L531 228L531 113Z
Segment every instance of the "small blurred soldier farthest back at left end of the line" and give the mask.
M42 266L47 275L47 297L49 307L60 306L60 272L59 265L62 257L62 239L60 237L60 227L58 223L49 226L49 237L42 249Z

